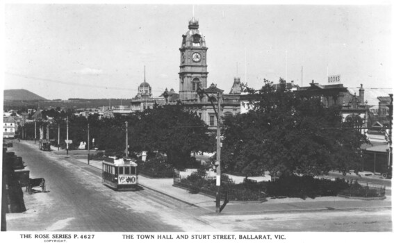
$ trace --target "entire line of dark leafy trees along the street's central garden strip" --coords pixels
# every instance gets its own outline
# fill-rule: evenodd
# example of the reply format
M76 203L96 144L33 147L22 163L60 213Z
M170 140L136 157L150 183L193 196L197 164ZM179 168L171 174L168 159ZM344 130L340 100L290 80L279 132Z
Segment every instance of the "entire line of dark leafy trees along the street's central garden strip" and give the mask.
M357 171L360 146L368 140L359 131L343 129L352 124L343 123L339 106L325 108L320 99L300 99L285 85L275 89L266 80L261 90L247 91L249 112L223 117L222 171L243 176L264 171L306 175L331 169ZM215 134L181 105L155 106L115 118L70 115L69 139L74 144L86 141L90 124L90 137L99 149L123 153L126 121L131 152L165 153L174 167L184 167L193 151L215 151ZM51 126L50 138L57 139L57 124L63 141L66 131L61 117Z

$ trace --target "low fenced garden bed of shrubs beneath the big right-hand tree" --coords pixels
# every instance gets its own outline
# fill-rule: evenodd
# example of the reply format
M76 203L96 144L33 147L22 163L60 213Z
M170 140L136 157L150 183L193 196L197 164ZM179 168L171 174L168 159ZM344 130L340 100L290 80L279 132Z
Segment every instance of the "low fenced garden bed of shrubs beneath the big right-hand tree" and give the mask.
M216 181L206 180L204 174L192 174L186 178L174 178L174 186L184 187L190 193L216 194ZM336 178L331 181L312 176L284 176L277 181L249 181L234 184L222 175L221 197L227 195L230 201L266 201L266 197L298 197L301 199L320 196L345 196L364 199L384 199L385 187L360 185L357 181Z

